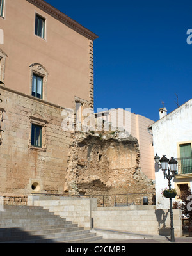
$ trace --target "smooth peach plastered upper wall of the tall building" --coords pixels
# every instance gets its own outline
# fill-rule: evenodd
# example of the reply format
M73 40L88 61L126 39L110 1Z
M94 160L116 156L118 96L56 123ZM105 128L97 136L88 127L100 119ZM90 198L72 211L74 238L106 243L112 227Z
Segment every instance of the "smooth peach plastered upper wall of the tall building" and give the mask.
M4 31L0 48L7 55L5 86L31 95L29 66L40 63L48 73L44 100L74 108L76 96L93 104L97 36L44 1L35 2L5 0L4 17L0 17ZM36 13L45 19L45 39L35 35Z

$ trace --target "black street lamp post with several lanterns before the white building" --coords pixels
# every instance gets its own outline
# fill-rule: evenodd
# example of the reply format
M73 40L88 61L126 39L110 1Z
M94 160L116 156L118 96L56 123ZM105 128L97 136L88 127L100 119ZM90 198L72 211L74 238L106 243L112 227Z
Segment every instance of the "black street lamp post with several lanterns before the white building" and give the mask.
M173 177L175 177L175 173L177 172L177 161L172 157L170 160L163 155L163 157L160 159L160 157L156 154L154 157L155 163L159 164L161 167L161 170L163 171L164 178L168 179L168 186L169 189L172 189L171 186L171 180ZM168 167L168 164L170 165L170 168ZM174 228L173 228L173 209L172 209L172 198L170 198L170 236L171 236L171 242L175 242L175 235L174 235Z

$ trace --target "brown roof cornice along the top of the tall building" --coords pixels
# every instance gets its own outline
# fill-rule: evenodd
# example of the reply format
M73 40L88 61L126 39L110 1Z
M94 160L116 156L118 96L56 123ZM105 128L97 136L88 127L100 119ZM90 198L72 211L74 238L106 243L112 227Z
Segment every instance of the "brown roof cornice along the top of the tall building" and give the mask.
M76 22L75 20L71 19L64 13L60 12L60 10L51 6L51 4L46 3L44 0L26 0L26 1L28 1L31 4L34 4L35 6L37 6L44 12L46 12L49 15L51 15L52 17L54 17L55 19L60 20L60 22L62 22L66 26L74 29L76 32L85 36L86 38L95 40L99 37L92 31L90 31L89 29L85 28L84 26L82 26L81 24Z

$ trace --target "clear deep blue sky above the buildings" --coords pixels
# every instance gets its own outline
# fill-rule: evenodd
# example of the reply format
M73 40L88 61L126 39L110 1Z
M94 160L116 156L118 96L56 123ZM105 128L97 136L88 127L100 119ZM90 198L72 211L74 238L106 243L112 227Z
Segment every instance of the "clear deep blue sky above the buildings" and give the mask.
M97 108L131 108L154 121L192 98L192 2L46 0L93 31ZM192 41L192 38L191 38ZM175 95L176 94L176 95Z

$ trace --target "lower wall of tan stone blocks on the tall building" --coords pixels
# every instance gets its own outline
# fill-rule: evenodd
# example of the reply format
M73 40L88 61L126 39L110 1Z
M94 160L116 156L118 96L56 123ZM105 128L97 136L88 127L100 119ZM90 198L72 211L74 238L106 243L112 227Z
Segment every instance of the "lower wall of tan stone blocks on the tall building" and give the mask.
M1 87L1 193L63 193L70 132L62 109ZM41 125L42 147L31 145L31 124Z

